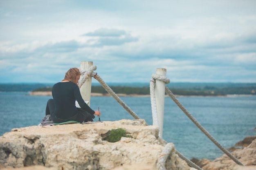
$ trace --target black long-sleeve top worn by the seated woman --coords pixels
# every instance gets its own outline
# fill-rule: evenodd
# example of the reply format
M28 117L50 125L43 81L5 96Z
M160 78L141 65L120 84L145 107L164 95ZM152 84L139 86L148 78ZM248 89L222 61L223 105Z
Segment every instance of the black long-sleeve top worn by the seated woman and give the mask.
M56 117L60 119L68 119L77 114L75 101L79 106L90 114L94 114L92 110L83 100L79 87L73 82L58 82L52 87L52 97L54 99Z

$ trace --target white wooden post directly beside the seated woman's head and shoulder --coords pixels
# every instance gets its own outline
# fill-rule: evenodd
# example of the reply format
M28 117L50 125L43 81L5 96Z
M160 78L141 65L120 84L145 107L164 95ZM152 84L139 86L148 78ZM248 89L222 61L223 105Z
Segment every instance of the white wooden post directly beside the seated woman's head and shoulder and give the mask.
M88 70L92 66L92 62L81 62L80 69ZM90 106L91 100L91 89L92 89L92 77L88 77L88 79L84 82L84 84L80 88L80 93L84 101L89 101L88 106Z

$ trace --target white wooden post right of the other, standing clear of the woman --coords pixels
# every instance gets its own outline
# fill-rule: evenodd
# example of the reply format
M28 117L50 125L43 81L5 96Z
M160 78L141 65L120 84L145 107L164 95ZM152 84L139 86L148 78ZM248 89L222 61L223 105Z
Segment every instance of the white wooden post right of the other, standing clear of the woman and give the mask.
M157 75L166 76L166 68L157 68ZM155 101L157 105L157 118L159 124L159 135L163 137L164 126L164 95L165 95L165 82L155 80Z

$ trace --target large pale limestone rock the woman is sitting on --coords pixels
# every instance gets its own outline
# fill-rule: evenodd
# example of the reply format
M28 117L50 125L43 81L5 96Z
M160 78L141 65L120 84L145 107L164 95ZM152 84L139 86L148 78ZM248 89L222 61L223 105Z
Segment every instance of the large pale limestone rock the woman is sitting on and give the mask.
M117 128L125 129L131 137L122 137L115 143L102 140L101 135ZM166 145L158 133L158 126L146 126L144 120L16 128L0 137L0 167L112 170L146 164L155 168ZM175 149L166 162L167 170L168 165L190 170Z

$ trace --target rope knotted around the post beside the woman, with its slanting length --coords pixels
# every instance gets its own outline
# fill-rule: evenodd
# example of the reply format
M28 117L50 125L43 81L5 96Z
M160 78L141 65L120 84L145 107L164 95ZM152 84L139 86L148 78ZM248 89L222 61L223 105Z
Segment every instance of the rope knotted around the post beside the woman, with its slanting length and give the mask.
M97 73L94 71L97 69L97 66L90 66L88 71L80 70L82 73L81 81L79 81L79 88L83 85L83 83L88 79L89 76L94 77L94 79L97 79L98 82L101 84L103 88L128 112L134 119L140 119L138 115L134 111L132 111L118 96L117 94L112 91L112 89L99 77Z

